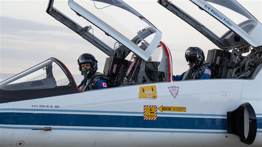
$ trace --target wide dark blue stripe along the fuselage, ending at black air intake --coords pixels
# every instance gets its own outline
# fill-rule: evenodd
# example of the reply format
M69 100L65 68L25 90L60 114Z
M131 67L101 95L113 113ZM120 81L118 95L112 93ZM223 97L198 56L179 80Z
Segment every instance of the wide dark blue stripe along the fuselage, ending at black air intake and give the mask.
M13 115L15 121L10 121ZM143 116L55 113L0 113L0 124L227 130L227 119L224 118L157 117L157 120L144 120Z

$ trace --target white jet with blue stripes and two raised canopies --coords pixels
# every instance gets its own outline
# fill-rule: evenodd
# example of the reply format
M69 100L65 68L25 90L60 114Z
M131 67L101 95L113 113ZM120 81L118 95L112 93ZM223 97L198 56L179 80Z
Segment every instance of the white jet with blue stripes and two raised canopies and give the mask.
M172 78L161 31L124 2L69 0L70 11L59 2L46 12L109 56L108 88L78 89L56 58L1 82L1 147L261 147L262 25L238 2L191 0L229 29L218 37L175 2L158 1L218 46L207 54L213 78L182 81ZM246 19L237 24L220 8Z

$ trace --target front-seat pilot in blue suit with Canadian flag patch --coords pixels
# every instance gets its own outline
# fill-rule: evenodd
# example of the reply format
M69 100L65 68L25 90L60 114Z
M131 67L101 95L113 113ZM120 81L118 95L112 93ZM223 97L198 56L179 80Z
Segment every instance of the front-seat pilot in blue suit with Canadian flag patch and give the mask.
M77 60L79 70L84 79L78 88L82 91L92 89L103 89L107 88L107 82L104 80L104 74L96 72L97 60L91 54L82 54Z

